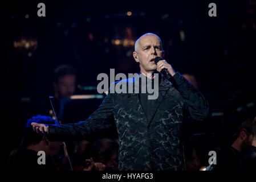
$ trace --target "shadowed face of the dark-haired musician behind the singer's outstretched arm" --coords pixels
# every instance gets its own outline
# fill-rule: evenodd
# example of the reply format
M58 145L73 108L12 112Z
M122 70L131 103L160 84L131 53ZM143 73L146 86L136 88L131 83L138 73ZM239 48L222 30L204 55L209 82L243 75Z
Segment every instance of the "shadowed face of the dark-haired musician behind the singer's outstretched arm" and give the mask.
M75 92L76 77L75 75L65 75L59 78L57 89L59 97L70 97Z

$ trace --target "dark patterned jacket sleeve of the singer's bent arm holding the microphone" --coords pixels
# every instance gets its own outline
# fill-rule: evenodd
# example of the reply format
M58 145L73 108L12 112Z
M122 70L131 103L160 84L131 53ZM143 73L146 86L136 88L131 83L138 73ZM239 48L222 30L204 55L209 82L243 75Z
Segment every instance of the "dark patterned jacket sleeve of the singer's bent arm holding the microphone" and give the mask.
M176 72L173 76L176 82L176 89L185 100L185 107L194 120L202 121L210 114L209 104L200 93L184 76Z

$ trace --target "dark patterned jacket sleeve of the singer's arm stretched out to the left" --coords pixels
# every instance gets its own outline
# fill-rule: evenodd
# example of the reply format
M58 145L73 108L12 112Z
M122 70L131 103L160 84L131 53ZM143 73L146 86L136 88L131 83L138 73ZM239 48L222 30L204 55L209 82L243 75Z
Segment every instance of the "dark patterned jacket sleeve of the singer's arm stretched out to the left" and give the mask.
M114 103L115 95L108 92L101 105L85 121L66 125L49 125L48 139L59 141L81 139L87 138L100 130L108 129L115 125L113 118Z

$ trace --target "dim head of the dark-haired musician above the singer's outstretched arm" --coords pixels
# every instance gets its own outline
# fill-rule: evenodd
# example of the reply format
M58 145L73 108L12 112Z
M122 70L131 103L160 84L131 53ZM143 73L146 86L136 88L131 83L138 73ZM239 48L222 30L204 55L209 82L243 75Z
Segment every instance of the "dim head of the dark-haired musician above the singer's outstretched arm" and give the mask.
M76 88L76 70L70 65L60 65L53 74L55 97L70 97Z

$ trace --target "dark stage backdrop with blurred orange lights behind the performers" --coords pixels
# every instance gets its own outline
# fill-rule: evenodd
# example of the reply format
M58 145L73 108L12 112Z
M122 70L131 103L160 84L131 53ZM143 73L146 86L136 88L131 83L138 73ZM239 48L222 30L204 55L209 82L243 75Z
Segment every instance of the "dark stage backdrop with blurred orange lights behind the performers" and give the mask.
M40 2L46 17L37 15L39 1L1 5L1 168L18 146L26 120L48 114L56 67L74 66L76 92L96 94L83 88L97 86L99 73L109 75L111 68L115 74L139 73L132 52L147 32L160 36L165 60L194 75L210 102L212 117L188 131L201 136L205 151L227 142L239 122L255 117L255 0ZM208 15L211 2L217 17ZM80 108L84 119L100 102Z

